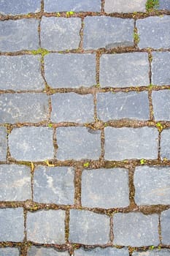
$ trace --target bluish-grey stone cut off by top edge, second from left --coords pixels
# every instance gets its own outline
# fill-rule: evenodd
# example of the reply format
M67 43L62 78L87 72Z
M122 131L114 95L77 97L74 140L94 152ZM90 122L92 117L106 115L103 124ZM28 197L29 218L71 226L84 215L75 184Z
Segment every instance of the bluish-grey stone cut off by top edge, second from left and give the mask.
M45 12L100 12L101 0L45 0Z

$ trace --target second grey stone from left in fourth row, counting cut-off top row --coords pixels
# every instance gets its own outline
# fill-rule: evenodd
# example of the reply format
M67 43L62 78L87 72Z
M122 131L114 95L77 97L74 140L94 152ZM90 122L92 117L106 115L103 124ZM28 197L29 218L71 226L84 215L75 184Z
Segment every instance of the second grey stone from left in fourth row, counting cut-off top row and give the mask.
M90 123L94 121L93 95L53 94L51 120Z

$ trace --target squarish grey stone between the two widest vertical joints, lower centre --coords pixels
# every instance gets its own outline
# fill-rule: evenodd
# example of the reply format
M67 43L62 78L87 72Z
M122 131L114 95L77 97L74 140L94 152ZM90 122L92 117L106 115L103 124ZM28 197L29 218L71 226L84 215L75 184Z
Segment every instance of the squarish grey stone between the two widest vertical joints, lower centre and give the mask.
M129 205L128 170L123 168L84 170L82 206L118 208Z

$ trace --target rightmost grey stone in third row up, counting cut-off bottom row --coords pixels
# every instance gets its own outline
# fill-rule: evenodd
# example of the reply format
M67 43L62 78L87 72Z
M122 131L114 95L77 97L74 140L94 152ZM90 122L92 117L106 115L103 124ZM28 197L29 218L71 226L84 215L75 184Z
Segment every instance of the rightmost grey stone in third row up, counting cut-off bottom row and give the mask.
M170 204L170 168L136 167L135 202L138 205Z

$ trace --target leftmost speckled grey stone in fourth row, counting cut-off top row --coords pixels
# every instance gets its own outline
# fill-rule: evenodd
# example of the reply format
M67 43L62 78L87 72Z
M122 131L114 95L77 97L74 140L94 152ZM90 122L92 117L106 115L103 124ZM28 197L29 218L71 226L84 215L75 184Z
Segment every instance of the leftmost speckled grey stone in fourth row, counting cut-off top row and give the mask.
M48 100L46 94L1 94L0 122L13 124L47 121Z

